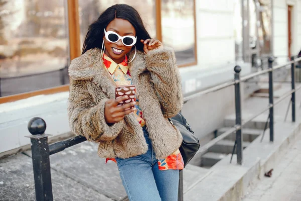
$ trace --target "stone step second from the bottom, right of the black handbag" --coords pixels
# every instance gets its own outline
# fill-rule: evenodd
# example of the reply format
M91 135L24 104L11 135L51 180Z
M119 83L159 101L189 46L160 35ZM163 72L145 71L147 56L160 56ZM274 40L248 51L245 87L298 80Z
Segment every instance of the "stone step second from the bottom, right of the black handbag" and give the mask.
M231 154L235 141L221 140L208 149L209 152ZM250 142L243 142L243 148L246 148Z

